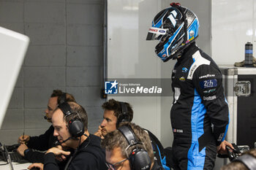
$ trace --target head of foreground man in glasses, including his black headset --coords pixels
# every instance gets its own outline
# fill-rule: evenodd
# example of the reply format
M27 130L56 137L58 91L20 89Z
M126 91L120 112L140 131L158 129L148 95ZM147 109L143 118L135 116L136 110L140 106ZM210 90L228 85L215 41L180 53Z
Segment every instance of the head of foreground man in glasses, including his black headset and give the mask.
M134 123L121 123L116 131L105 135L102 147L106 150L108 169L163 170L154 161L148 134Z

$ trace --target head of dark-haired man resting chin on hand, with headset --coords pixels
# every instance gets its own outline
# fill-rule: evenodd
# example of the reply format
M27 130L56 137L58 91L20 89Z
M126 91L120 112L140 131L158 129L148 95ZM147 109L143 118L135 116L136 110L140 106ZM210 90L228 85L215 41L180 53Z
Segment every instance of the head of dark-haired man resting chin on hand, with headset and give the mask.
M118 123L121 122L121 120L126 119L129 122L132 121L133 110L131 105L127 102L123 102L123 104L127 107L126 115L122 112L120 101L116 101L112 98L102 104L102 108L104 109L103 120L95 135L103 139L106 134L118 128Z

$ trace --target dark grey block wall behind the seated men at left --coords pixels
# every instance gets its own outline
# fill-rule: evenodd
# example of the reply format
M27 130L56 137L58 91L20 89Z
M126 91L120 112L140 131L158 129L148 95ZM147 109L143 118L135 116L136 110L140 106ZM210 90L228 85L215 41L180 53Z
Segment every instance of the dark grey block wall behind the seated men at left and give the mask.
M1 142L42 134L53 89L72 93L89 114L89 131L102 120L103 0L0 0L0 26L26 34L29 50L12 94Z

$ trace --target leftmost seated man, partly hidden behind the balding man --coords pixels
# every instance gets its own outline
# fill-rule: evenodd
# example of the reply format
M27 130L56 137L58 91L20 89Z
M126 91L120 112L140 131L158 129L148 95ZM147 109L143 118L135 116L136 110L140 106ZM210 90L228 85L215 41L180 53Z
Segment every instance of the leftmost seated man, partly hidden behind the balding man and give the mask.
M75 98L69 93L63 93L61 90L53 90L48 101L48 108L45 110L45 120L48 120L48 122L51 123L53 110L58 107L58 104L63 103L64 101L75 101ZM53 136L53 131L53 125L50 125L50 128L45 131L45 134L39 136L20 136L18 139L18 143L20 143L20 146L17 149L18 153L31 163L43 163L44 153L34 150L45 151L50 147L53 147L57 141L57 138Z

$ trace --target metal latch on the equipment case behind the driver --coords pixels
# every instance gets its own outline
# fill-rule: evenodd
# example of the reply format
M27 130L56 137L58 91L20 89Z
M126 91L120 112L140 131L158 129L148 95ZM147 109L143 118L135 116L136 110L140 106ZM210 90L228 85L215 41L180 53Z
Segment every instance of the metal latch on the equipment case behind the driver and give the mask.
M234 87L236 96L249 96L251 94L251 82L249 81L238 81Z

